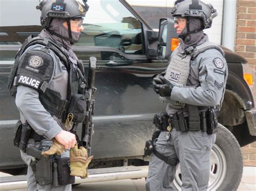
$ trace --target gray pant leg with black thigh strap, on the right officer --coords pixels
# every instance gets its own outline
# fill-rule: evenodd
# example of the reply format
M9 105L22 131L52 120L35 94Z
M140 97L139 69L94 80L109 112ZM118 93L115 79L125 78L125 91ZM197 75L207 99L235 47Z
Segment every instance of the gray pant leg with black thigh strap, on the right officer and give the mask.
M176 158L177 154L173 147L173 140L167 143L166 132L162 131L156 139L156 150L164 154L165 156ZM147 191L167 191L173 190L171 182L174 179L174 174L176 171L175 166L166 164L165 161L159 159L152 153L151 160L149 164L149 174L146 180L146 190Z

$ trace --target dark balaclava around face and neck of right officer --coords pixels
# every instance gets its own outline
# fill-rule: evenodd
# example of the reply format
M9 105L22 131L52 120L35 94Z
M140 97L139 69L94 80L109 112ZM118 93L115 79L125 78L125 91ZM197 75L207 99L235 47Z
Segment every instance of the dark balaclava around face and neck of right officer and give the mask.
M181 31L179 37L182 37L180 46L178 47L180 52L184 52L184 50L191 46L198 46L206 41L208 41L208 36L200 30L203 27L203 21L199 18L190 17L189 18L189 29L190 31L198 30L196 33L187 34L187 26ZM185 37L183 37L185 34Z

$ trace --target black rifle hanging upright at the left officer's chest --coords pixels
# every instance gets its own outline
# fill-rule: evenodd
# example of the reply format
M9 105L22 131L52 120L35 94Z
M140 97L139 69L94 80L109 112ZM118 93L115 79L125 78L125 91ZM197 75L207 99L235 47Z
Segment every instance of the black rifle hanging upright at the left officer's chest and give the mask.
M82 136L81 136L81 144L87 149L88 155L91 155L91 141L92 135L94 133L93 127L94 124L92 122L92 115L94 114L94 105L95 100L93 100L93 96L96 92L95 86L95 72L96 72L96 61L97 59L94 56L91 56L89 59L89 71L87 83L88 86L85 88L85 98L86 98L86 113L85 119L82 124Z

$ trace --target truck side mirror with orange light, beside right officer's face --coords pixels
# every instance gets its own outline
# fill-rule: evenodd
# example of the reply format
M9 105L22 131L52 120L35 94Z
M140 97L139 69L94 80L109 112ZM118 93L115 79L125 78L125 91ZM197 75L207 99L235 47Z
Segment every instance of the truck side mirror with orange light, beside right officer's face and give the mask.
M178 44L179 38L176 29L174 29L174 20L161 18L158 33L158 59L169 59Z

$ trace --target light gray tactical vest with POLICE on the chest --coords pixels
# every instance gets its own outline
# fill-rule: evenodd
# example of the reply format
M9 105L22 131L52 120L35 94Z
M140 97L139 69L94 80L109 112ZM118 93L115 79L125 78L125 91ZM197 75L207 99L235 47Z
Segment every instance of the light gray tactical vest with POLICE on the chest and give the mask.
M172 82L174 86L186 87L188 75L190 74L190 61L196 59L200 53L212 48L217 49L223 56L225 55L223 49L217 44L208 41L196 47L188 47L185 49L184 53L180 53L177 48L172 53L172 57L166 69L165 78ZM223 98L221 99L221 103ZM177 109L185 107L184 103L173 101L170 97L160 97L160 100L171 104L172 107Z

